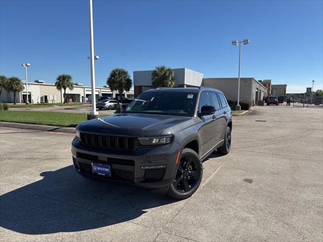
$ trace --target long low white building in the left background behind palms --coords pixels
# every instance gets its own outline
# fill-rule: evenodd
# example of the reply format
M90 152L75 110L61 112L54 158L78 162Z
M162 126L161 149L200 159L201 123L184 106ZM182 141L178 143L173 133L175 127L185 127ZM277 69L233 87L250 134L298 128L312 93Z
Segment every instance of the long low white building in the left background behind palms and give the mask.
M26 82L24 90L16 94L17 103L26 103L27 90ZM100 97L116 97L119 93L111 91L109 87L96 87L95 96ZM134 90L124 92L123 96L128 98L134 97ZM91 87L83 86L80 83L75 83L73 90L66 89L66 99L73 102L88 102L91 97ZM36 80L35 82L28 82L28 100L30 103L60 103L64 102L64 90L58 90L55 84L48 84L44 81ZM0 102L14 102L14 94L12 92L2 91Z

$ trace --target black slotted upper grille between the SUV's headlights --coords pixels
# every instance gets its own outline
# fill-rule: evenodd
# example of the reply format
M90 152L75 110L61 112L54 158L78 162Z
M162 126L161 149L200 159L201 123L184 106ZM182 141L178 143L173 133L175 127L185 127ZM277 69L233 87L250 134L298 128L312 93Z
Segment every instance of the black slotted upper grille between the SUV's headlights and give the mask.
M80 139L85 146L107 150L133 151L137 144L137 139L133 137L96 135L82 132L80 133Z

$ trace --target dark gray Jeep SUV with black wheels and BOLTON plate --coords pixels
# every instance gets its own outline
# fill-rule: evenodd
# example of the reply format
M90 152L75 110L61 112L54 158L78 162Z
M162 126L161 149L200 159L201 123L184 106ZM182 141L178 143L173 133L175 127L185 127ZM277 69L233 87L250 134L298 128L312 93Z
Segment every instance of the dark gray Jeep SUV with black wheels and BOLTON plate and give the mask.
M76 127L72 156L89 179L117 181L190 197L199 187L202 161L228 154L232 115L224 94L212 88L153 89L121 113Z

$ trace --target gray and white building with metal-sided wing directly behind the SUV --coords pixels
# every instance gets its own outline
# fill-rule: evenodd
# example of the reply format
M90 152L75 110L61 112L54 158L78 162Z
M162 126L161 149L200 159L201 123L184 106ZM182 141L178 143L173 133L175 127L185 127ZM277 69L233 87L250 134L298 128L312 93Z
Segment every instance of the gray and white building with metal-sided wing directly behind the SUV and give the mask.
M174 71L174 87L212 87L222 91L227 99L237 100L238 78L204 78L202 73L187 68L172 70ZM151 74L152 70L133 72L135 97L153 88ZM247 100L255 105L258 100L262 100L266 96L267 88L256 79L252 77L240 78L240 100Z

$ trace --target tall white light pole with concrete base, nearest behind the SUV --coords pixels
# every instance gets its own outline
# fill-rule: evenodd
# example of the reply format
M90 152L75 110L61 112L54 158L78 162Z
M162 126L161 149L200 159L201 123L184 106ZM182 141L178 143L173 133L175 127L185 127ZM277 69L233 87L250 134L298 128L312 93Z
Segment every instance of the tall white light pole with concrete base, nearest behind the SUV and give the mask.
M87 114L87 119L99 117L95 105L95 72L94 72L94 43L93 43L93 13L92 0L89 0L89 32L90 32L90 67L91 67L91 93L92 93L92 110Z

